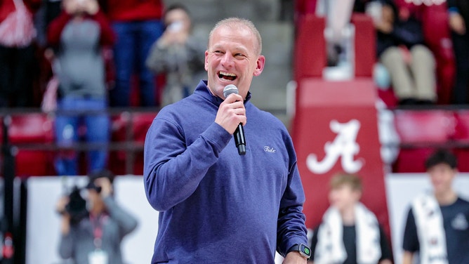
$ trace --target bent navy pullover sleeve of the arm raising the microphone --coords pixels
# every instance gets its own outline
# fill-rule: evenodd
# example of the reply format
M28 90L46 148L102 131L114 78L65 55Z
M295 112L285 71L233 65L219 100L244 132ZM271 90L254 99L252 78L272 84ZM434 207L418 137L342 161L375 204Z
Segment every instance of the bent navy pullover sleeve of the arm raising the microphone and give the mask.
M190 197L230 138L230 133L213 122L186 145L183 129L175 121L156 117L144 150L145 194L151 206L166 211Z

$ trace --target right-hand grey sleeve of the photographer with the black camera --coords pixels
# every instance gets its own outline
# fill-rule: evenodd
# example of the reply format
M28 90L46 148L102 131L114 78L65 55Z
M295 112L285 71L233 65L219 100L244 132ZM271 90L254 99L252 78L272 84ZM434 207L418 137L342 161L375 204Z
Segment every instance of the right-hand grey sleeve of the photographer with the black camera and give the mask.
M126 212L119 206L112 197L105 197L104 203L106 205L107 213L119 225L119 237L123 239L125 235L136 229L138 221L130 213Z

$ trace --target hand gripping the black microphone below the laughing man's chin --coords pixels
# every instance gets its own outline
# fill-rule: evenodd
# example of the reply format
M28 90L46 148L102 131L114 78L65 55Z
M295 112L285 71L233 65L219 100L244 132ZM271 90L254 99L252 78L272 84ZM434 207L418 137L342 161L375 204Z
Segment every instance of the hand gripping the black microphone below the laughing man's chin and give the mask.
M220 104L215 123L230 134L234 133L239 123L246 124L246 108L241 95L232 93Z

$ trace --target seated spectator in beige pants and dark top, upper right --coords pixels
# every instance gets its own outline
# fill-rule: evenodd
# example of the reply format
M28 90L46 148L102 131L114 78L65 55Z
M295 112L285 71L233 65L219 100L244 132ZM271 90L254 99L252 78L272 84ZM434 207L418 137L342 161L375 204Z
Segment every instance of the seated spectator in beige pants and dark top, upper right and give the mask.
M418 6L404 0L375 0L377 53L388 69L400 105L432 104L437 100L435 58L424 44Z

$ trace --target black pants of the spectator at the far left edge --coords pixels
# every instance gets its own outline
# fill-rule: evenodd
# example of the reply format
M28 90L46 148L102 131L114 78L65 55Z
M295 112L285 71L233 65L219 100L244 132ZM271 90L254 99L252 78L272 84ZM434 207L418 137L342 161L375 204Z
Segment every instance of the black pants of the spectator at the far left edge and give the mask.
M34 48L0 46L0 107L32 106Z

